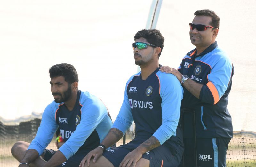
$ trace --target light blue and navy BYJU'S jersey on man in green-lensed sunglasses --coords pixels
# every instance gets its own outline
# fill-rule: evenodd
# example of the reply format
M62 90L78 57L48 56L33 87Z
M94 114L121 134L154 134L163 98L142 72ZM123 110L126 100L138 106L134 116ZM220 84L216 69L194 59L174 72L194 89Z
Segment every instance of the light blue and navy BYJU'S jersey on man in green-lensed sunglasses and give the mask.
M112 127L125 133L134 121L136 137L153 135L161 145L177 149L182 145L177 126L183 89L174 75L162 73L159 68L146 80L142 80L140 72L128 80Z

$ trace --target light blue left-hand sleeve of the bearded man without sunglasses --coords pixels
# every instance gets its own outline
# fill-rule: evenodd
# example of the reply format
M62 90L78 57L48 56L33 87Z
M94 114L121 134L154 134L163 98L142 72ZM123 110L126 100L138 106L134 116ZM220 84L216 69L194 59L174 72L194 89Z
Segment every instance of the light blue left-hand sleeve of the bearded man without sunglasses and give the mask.
M42 121L36 133L36 137L32 140L28 147L28 149L35 149L38 152L39 156L52 141L53 135L58 128L58 124L55 120L55 111L57 109L58 105L54 102L52 102L45 108L42 116Z

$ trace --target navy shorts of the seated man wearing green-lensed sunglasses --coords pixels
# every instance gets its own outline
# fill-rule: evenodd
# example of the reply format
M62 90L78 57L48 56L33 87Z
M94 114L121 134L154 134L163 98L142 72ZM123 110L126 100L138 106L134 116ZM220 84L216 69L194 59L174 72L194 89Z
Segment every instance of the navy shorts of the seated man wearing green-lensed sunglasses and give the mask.
M107 158L108 161L114 165L114 167L118 167L123 161L124 157L144 141L146 140L141 141L141 139L135 138L130 143L104 151L103 156ZM150 161L150 167L161 165L162 167L177 167L181 161L182 152L178 155L173 155L168 147L161 145L144 153L142 158Z

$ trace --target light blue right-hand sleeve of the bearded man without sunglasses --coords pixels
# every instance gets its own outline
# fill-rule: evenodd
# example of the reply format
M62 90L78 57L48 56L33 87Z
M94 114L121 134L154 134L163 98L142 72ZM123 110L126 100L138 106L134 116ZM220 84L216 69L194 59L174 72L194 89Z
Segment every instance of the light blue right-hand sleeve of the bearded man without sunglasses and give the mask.
M98 104L97 100L87 99L86 104L82 105L80 124L59 149L67 159L76 153L101 121L108 116L107 108Z

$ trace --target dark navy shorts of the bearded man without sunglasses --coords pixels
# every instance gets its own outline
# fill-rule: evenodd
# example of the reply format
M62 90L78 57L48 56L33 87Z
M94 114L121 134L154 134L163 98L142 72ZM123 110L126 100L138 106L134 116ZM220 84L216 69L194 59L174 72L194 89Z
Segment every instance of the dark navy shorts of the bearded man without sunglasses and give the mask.
M90 152L91 149L78 150L73 156L68 158L67 161L59 165L58 167L78 167L82 159ZM44 149L44 160L49 161L56 153L54 150Z

